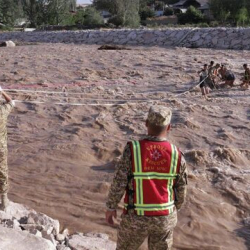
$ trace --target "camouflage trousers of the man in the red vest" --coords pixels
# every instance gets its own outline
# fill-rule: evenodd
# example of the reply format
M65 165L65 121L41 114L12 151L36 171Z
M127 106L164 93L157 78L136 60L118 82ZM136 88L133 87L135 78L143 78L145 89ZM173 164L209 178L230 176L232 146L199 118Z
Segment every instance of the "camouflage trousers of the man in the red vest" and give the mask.
M148 237L149 250L170 250L177 212L168 216L122 215L116 250L136 250Z

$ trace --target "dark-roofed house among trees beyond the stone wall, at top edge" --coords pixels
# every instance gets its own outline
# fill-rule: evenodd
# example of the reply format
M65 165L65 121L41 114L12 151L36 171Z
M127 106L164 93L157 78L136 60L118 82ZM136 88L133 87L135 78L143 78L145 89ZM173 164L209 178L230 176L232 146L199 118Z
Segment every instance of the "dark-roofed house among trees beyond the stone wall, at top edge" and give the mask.
M210 17L209 0L181 0L171 7L175 12L185 13L190 6L194 6L196 9L200 10L205 16Z

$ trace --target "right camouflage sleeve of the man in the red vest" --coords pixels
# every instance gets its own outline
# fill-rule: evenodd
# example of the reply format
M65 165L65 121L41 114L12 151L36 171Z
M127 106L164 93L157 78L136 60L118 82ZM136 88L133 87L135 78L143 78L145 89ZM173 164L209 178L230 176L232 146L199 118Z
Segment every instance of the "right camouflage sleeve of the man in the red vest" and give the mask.
M177 210L179 210L186 198L187 192L187 167L184 156L181 156L181 167L180 167L180 175L175 184L176 196L178 197L175 201L175 206Z

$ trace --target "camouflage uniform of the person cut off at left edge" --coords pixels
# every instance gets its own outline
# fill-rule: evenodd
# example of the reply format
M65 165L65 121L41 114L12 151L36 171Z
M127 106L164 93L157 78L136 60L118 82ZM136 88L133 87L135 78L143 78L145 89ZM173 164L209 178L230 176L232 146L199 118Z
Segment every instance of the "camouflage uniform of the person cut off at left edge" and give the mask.
M7 164L7 118L14 102L0 105L0 195L8 191L8 164Z

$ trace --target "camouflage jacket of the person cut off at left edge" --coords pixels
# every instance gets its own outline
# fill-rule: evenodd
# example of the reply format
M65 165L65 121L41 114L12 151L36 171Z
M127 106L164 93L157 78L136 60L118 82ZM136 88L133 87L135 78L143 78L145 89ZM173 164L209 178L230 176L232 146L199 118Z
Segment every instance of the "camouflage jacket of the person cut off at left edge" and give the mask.
M14 106L13 101L0 104L0 149L7 149L7 118Z

